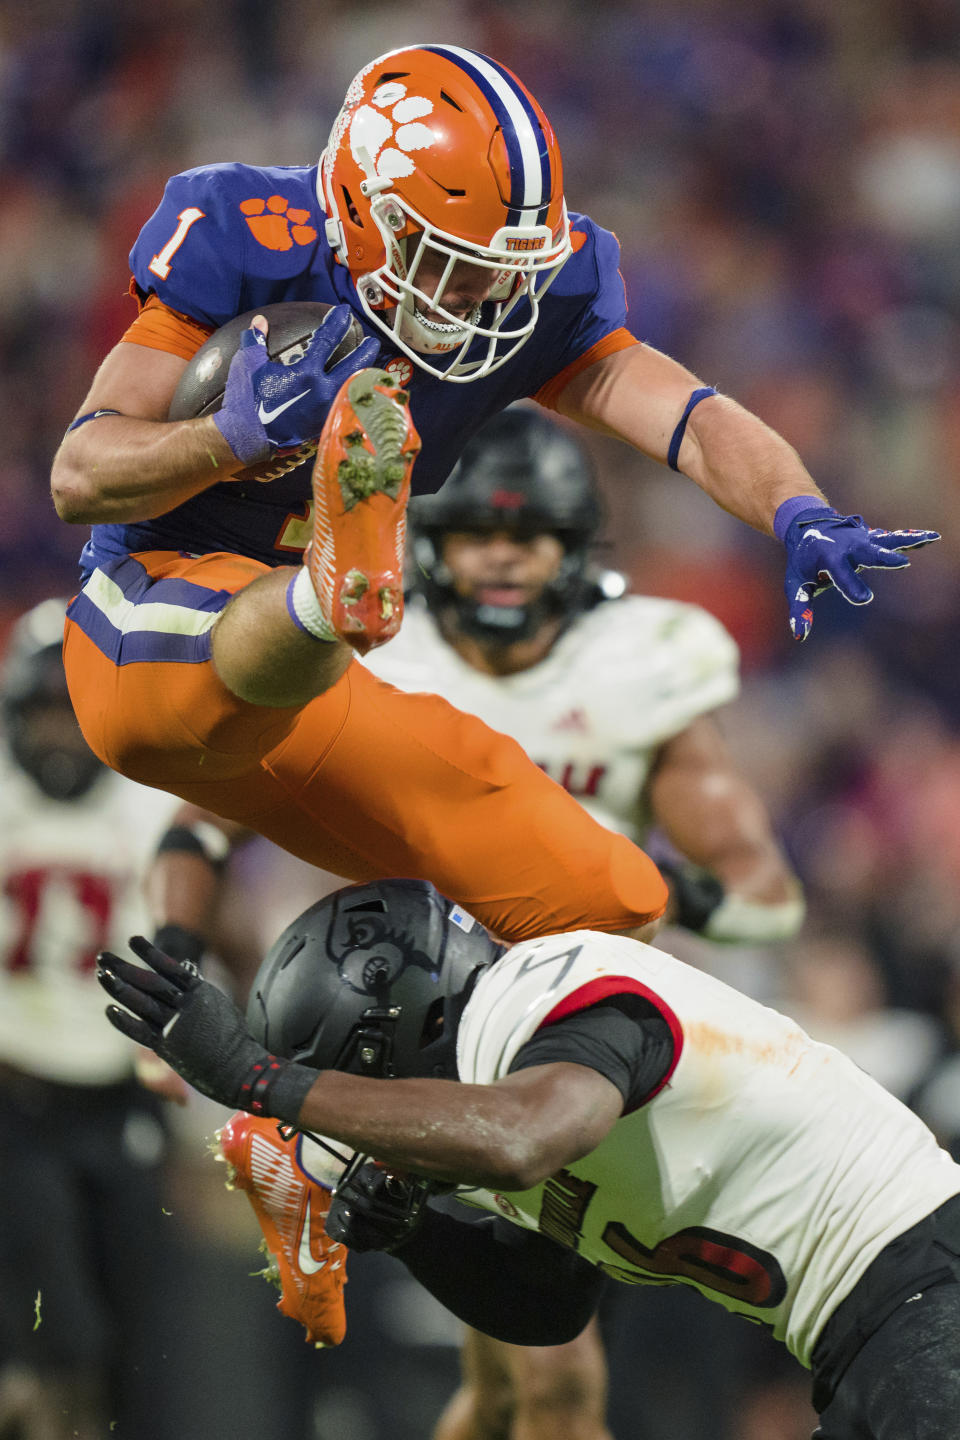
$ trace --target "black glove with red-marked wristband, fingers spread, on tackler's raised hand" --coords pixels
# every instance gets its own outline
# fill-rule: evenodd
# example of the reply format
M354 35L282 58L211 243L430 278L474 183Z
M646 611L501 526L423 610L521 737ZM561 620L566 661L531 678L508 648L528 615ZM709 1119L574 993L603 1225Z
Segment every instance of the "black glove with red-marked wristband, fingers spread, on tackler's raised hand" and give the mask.
M135 935L130 948L151 968L131 965L109 950L98 956L98 981L127 1007L107 1007L111 1025L155 1050L212 1100L295 1125L317 1071L278 1060L258 1044L233 1001L201 979L191 960L171 959L142 935Z

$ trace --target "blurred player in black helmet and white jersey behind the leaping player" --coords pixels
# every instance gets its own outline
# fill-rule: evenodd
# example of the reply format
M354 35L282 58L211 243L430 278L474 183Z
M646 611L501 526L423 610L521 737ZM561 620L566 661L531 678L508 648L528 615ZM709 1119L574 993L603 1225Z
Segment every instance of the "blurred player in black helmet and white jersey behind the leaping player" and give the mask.
M609 829L646 845L656 825L688 861L668 867L668 919L790 937L799 883L711 719L737 694L737 647L707 611L597 572L600 523L574 435L533 406L495 416L412 503L415 595L366 664L512 736Z

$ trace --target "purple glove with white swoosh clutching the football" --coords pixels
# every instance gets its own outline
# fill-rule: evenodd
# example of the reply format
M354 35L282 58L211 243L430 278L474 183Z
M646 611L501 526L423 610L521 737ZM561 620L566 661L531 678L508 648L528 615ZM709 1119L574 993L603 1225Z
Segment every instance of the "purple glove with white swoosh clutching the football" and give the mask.
M276 449L317 439L344 380L354 370L374 364L380 353L380 341L367 337L327 370L351 323L350 307L334 305L294 364L271 360L265 331L253 325L245 330L230 361L223 405L213 416L239 461L256 465Z

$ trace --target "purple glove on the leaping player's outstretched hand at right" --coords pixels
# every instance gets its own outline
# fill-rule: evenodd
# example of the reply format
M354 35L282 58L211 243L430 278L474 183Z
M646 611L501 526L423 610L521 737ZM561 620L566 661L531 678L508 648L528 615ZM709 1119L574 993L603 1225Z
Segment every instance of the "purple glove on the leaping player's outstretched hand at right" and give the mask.
M773 528L787 550L784 589L794 639L810 634L810 600L830 585L851 605L866 605L874 592L861 570L902 570L910 564L904 550L940 539L936 530L871 530L862 516L842 516L812 495L784 500Z

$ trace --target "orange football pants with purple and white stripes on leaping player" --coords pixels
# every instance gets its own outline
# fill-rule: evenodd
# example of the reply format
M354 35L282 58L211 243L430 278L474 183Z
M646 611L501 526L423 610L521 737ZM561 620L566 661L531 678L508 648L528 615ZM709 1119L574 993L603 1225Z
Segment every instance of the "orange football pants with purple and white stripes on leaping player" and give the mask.
M348 880L416 877L507 940L625 930L662 914L664 880L507 736L360 661L307 706L233 696L210 661L230 595L266 566L144 552L72 600L71 696L95 753L134 780L242 824Z

